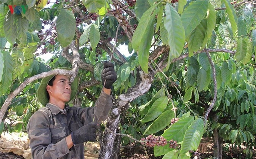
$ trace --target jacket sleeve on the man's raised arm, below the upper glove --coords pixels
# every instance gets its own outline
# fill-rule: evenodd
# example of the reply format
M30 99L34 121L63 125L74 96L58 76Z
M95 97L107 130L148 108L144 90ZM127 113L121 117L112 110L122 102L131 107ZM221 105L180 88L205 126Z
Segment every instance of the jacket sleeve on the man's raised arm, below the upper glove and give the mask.
M106 94L102 91L101 95L95 102L94 107L77 108L80 121L86 125L90 122L101 123L108 117L108 113L113 106L112 95Z

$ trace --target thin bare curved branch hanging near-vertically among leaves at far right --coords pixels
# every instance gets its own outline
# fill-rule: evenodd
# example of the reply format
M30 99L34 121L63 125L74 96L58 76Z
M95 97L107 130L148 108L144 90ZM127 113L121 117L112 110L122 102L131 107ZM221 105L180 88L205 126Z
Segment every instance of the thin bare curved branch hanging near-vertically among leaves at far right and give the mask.
M216 102L216 99L217 99L217 80L216 80L216 70L215 70L215 66L214 66L214 62L212 61L211 57L210 57L210 54L208 52L207 49L204 49L206 54L207 54L207 57L209 59L209 62L210 62L210 65L212 66L212 77L213 77L213 81L214 81L214 99L212 100L212 103L210 104L210 107L207 109L205 115L204 115L204 125L207 121L207 118L208 118L208 114L210 113L210 111L212 110L215 102Z

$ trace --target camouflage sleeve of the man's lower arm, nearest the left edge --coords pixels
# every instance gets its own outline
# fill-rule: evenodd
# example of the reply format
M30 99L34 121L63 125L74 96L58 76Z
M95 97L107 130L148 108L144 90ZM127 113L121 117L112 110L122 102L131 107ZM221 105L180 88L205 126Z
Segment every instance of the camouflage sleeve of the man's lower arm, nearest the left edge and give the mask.
M27 125L30 148L34 159L57 159L69 153L66 138L51 143L49 116L42 111L33 114Z

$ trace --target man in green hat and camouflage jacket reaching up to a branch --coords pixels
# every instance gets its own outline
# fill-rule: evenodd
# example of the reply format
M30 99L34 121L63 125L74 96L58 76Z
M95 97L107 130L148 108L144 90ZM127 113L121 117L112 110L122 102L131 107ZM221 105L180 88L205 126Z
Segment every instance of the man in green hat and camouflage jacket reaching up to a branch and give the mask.
M64 68L68 69L68 68ZM96 140L96 123L101 123L113 106L111 87L116 72L111 62L104 62L101 74L105 82L95 107L69 107L78 89L78 77L70 83L64 75L42 79L37 98L43 107L33 114L27 125L34 159L83 159L84 142Z

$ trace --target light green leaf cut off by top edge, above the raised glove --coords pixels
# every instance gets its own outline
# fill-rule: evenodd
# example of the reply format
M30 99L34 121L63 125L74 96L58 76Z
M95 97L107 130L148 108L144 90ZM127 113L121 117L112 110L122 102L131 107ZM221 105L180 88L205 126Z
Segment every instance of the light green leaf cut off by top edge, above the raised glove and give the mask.
M91 13L95 13L105 6L105 0L82 0L82 3Z

